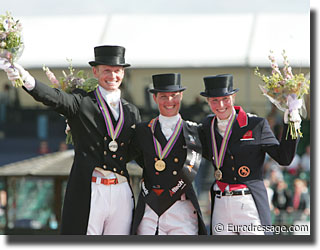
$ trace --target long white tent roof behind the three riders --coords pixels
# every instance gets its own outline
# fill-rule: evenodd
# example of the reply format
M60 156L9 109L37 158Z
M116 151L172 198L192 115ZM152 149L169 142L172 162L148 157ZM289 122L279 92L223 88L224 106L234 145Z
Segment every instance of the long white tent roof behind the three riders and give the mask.
M310 66L310 15L124 15L23 17L29 68L87 67L93 47L126 47L133 67L269 66L286 49L293 66ZM279 60L282 60L281 56Z

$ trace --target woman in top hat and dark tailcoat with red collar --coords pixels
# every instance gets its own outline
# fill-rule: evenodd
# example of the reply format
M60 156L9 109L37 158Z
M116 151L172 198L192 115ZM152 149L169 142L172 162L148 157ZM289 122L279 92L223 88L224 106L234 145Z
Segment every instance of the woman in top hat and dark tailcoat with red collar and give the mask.
M211 233L270 234L270 208L263 183L263 163L268 153L280 165L289 165L297 140L280 141L266 119L234 106L238 89L230 74L204 77L205 91L214 115L199 131L203 156L212 161L215 182L211 188ZM270 230L271 229L271 230Z

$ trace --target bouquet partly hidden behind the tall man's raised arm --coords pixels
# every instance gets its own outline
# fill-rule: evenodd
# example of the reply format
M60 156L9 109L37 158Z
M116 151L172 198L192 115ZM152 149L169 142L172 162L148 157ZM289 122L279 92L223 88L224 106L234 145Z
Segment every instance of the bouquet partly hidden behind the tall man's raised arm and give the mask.
M55 77L55 75L52 73L52 71L46 67L43 66L43 70L45 71L49 81L51 82L51 87L61 89L67 93L71 93L75 89L83 89L86 92L93 91L98 86L98 80L96 78L88 78L88 75L84 73L83 70L78 71L75 74L75 69L72 66L72 60L67 59L69 62L69 73L66 73L64 70L62 71L63 76L59 78L59 80ZM66 143L67 144L73 144L72 140L72 134L70 127L67 122L66 127Z

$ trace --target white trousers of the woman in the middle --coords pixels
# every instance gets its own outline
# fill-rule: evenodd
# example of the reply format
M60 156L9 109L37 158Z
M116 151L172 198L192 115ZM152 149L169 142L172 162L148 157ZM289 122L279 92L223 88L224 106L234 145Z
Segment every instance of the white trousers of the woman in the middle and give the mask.
M198 215L190 200L176 201L160 218L146 204L138 235L154 235L159 219L159 235L197 235Z

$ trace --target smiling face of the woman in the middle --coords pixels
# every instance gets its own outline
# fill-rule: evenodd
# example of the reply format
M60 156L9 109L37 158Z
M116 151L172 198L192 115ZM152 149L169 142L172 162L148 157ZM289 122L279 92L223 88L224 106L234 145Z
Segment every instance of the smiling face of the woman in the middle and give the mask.
M170 117L179 113L182 96L182 92L158 92L153 94L153 100L158 105L160 114Z

